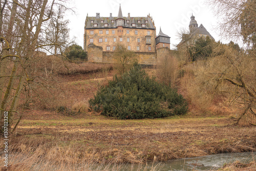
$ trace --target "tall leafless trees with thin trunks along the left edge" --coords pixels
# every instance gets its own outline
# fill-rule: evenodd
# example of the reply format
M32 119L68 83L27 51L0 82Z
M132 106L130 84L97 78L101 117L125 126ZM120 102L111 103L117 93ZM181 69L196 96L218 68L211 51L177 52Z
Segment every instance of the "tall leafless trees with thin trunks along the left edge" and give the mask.
M8 112L8 126L14 119L18 124L22 113L18 108L20 99L26 101L28 91L33 84L45 87L40 75L35 75L32 64L38 58L36 50L49 46L38 41L41 28L52 16L57 0L16 0L8 2L3 9L2 34L0 49L0 132L3 132L4 112ZM11 14L9 15L9 9ZM9 20L9 22L6 22ZM10 70L10 67L12 69ZM25 97L23 97L25 94ZM30 96L31 97L31 96ZM16 128L14 127L14 130Z

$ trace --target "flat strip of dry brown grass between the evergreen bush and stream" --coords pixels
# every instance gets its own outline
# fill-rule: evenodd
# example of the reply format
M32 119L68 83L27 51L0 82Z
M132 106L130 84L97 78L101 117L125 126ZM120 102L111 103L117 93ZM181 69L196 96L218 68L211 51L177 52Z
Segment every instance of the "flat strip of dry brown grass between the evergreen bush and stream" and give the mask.
M255 151L256 127L232 123L227 117L116 120L93 113L65 116L34 111L24 116L10 137L10 153L24 157L10 164L29 170L38 161L145 163Z

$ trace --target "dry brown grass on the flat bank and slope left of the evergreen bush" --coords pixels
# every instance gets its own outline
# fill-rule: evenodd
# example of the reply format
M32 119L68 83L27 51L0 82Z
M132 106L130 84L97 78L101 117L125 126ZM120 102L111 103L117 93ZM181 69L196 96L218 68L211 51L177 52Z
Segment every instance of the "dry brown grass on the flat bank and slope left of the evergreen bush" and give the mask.
M189 106L185 116L141 120L117 120L87 112L88 100L116 74L97 67L102 68L94 66L92 72L82 74L75 69L72 74L59 70L61 74L55 76L59 96L24 112L9 137L10 170L54 170L56 165L56 170L118 170L95 163L146 163L256 150L256 127L233 125L224 112L195 114ZM152 74L154 69L147 72ZM68 110L57 112L59 106ZM240 170L234 165L226 169ZM246 169L255 170L255 162L242 170Z

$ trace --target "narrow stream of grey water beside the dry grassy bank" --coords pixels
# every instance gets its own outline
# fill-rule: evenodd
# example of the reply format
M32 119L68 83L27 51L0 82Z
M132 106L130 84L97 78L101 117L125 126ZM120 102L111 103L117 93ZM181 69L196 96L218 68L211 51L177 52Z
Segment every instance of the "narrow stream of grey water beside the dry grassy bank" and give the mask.
M234 161L240 161L242 163L250 162L256 152L245 152L245 153L223 153L217 155L208 155L202 157L193 157L193 158L185 158L185 159L175 159L169 160L166 162L160 163L150 163L142 166L143 168L147 167L147 170L152 170L154 166L157 166L155 170L163 170L163 171L192 171L192 170L210 170L210 169L218 169L222 167L225 163L232 163ZM138 167L141 165L136 164L126 164L123 166L122 171L131 171L138 170Z

